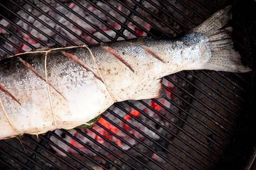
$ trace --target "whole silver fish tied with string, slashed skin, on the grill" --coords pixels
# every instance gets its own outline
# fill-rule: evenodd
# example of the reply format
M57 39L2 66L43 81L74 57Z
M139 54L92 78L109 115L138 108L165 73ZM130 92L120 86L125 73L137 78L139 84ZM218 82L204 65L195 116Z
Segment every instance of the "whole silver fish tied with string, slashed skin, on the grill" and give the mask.
M248 72L233 49L231 7L176 39L41 47L0 61L0 138L71 129L115 102L159 98L181 70ZM220 30L219 30L220 29Z

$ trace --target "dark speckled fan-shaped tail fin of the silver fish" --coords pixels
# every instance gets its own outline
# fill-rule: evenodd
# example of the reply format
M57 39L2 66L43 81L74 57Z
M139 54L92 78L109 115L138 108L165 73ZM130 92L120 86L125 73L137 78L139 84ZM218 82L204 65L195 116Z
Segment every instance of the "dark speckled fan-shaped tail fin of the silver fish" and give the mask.
M201 69L210 69L225 72L249 72L251 69L244 66L238 51L233 49L232 28L222 28L231 20L231 6L214 13L199 26L191 31L199 32L209 38L212 52L210 60Z

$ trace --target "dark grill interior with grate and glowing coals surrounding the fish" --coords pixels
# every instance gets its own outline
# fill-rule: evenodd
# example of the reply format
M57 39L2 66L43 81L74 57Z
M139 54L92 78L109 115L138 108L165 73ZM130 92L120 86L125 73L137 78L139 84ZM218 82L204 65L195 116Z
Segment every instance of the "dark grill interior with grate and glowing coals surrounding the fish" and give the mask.
M251 42L245 38L250 29L240 22L245 14L237 12L250 3L240 1L8 0L0 2L0 58L54 44L173 38L228 4L234 5L235 47L254 67ZM244 168L255 141L247 136L254 132L251 122L242 131L246 120L255 120L250 114L254 97L249 97L253 80L254 73L178 72L165 77L163 99L115 103L94 128L1 140L0 168ZM245 144L241 137L250 140ZM240 162L231 164L235 160Z

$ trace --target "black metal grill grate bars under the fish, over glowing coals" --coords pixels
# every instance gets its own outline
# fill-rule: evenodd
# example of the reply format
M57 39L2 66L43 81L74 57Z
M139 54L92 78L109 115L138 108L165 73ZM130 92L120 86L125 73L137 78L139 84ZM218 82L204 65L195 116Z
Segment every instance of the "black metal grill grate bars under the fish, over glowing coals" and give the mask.
M55 19L54 16L51 16L49 13L50 10L54 11L59 17L64 18L70 25L76 27L76 29L87 34L95 42L103 42L105 38L107 40L119 40L120 38L128 39L130 37L140 36L136 29L154 38L171 38L198 25L210 16L210 14L219 9L214 2L209 0L101 0L100 3L106 8L103 5L99 5L99 2L86 0L88 6L93 7L95 11L119 25L119 28L116 29L80 1L68 0L64 3L63 0L51 0L49 3L48 1L39 0L39 2L34 3L32 0L24 0L22 2L25 2L24 4L26 5L20 5L18 1L13 0L8 0L9 5L7 5L8 3L0 3L3 11L9 13L8 15L0 13L2 20L5 20L4 23L8 24L0 24L2 28L2 34L0 34L2 41L0 44L1 58L14 55L13 51L25 52L21 44L27 45L30 49L36 48L34 44L22 37L23 34L29 36L31 40L34 40L41 46L51 44L57 44L62 47L65 45L78 45L75 41L65 36L65 34L72 35L73 38L77 39L76 42L86 45L91 44L87 39L82 38L69 27L66 27L61 21ZM71 5L79 7L82 13L87 13L88 16L105 25L105 27L113 31L114 35L107 34L106 31L82 16L81 13L74 11ZM21 10L24 15L15 12L12 7ZM104 40L65 16L57 7L63 7L69 13L73 13L82 22L85 22L92 29L102 34ZM122 7L124 11L118 7ZM48 9L48 11L45 11L45 9ZM111 12L120 16L122 20L117 19ZM34 18L34 21L40 22L43 27L48 28L60 38L52 37L42 31L34 23L25 19L25 14ZM44 21L39 16L45 16L48 20ZM17 22L18 20L27 26L19 25L21 22ZM56 29L56 27L52 27L51 22L64 29L66 31L65 34ZM136 29L132 29L129 25L130 23ZM146 29L141 23L151 25L151 29ZM27 27L30 28L30 31L26 29ZM47 41L34 36L31 30L36 30ZM7 35L11 38L7 37ZM19 45L16 42L19 42ZM169 96L164 98L171 107L167 107L156 99L150 100L163 108L163 110L166 110L171 117L162 114L162 112L149 105L148 101L138 101L138 103L154 112L156 116L159 116L166 123L156 120L147 111L137 107L132 101L115 103L112 108L103 114L102 118L108 124L123 134L126 134L128 139L136 141L135 144L131 144L113 132L109 127L98 122L95 125L98 128L97 130L96 128L89 128L87 130L75 129L76 133L87 138L95 146L98 146L97 149L87 145L87 143L81 141L70 131L60 130L63 136L69 136L73 141L79 143L82 148L86 148L88 153L72 145L63 136L53 131L39 135L38 139L35 136L25 135L22 139L23 145L20 145L18 139L0 141L0 163L2 163L3 167L9 169L22 170L49 168L75 170L81 169L82 167L91 170L96 168L119 170L216 168L219 159L226 151L234 135L240 113L244 111L243 105L247 101L245 95L249 84L248 78L245 75L236 73L208 72L203 70L196 72L184 71L174 75L176 78L170 76L165 78L167 82L175 86L174 90L165 85L166 91L174 96L174 99ZM145 117L144 120L146 121L142 121L134 114L131 114L124 105L137 110L141 116ZM113 108L129 115L136 123L131 123L124 119ZM117 120L113 121L111 119L112 117L117 118ZM134 136L126 128L121 127L118 122L128 125L128 127L144 137L139 138ZM154 126L149 125L148 122L152 122ZM149 132L143 132L137 127L137 124L146 127ZM167 124L173 128L170 129ZM109 139L108 136L101 134L102 131L98 131L101 128L108 132L109 135L114 136L115 139L129 146L130 149L123 149L118 143ZM95 140L89 133L99 136L103 142ZM149 133L155 134L158 136L158 139L154 139ZM72 154L63 149L53 141L53 138L64 143L67 148L71 148L77 154ZM110 145L116 148L118 152L110 149L108 147ZM58 154L50 146L53 146L65 156ZM27 153L25 153L23 147ZM89 152L93 154L89 154Z

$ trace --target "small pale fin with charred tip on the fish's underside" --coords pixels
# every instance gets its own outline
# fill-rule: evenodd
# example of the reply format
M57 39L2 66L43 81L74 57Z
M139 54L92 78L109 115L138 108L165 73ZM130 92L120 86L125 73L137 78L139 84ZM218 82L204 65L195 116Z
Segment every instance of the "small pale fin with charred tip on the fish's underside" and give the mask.
M149 84L146 84L142 91L137 93L138 95L133 97L133 100L149 99L149 98L161 98L165 96L165 89L162 85L162 78L155 80Z

